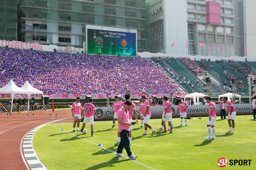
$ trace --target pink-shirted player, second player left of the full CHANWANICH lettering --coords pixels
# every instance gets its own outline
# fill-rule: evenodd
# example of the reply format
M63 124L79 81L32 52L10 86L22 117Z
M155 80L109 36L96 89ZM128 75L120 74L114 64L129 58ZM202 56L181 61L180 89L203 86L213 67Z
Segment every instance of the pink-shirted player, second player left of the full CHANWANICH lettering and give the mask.
M162 119L164 130L162 133L166 133L166 120L168 121L170 127L170 133L172 133L172 103L168 101L168 97L163 97L164 115Z

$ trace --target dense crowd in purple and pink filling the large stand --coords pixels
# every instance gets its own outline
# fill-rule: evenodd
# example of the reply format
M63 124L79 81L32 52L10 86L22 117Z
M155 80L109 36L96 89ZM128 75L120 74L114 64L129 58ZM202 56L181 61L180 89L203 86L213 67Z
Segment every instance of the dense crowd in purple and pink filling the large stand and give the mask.
M26 80L44 93L182 92L163 68L142 58L0 48L0 88Z

